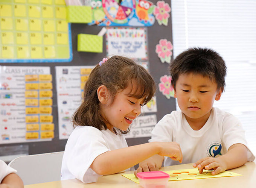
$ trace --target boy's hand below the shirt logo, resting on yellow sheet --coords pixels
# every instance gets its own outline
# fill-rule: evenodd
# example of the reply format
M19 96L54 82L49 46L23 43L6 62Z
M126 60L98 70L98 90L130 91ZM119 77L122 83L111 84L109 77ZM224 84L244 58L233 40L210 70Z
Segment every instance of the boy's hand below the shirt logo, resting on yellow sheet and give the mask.
M213 157L206 157L203 159L198 160L193 164L194 168L198 168L199 173L202 173L203 170L214 170L212 171L212 175L216 175L218 173L224 172L227 170L227 164L221 158L213 158Z

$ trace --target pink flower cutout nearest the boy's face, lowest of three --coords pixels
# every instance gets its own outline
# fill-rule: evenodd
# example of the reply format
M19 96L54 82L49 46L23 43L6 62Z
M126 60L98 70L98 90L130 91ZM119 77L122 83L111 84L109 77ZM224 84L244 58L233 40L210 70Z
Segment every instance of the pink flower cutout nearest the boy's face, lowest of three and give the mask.
M159 91L168 99L174 96L174 89L172 88L171 81L171 76L164 75L160 77L160 83L158 84Z

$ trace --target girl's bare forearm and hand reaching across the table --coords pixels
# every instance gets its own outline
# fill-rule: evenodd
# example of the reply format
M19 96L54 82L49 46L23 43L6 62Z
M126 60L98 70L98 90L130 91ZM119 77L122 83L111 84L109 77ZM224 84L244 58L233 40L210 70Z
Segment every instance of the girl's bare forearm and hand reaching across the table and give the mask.
M156 154L168 156L175 161L182 161L179 144L175 142L151 142L102 153L94 159L90 167L97 174L114 174Z

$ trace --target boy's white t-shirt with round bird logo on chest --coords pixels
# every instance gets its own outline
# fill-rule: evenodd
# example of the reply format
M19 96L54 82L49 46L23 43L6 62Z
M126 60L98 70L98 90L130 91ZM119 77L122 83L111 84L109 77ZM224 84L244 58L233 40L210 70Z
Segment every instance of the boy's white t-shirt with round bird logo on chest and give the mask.
M193 130L182 112L173 111L165 115L152 130L149 142L175 141L180 144L183 164L193 163L204 157L216 157L227 153L233 144L244 144L245 131L238 118L228 112L213 108L206 124L200 130ZM248 149L248 161L255 159ZM180 164L165 157L164 166Z

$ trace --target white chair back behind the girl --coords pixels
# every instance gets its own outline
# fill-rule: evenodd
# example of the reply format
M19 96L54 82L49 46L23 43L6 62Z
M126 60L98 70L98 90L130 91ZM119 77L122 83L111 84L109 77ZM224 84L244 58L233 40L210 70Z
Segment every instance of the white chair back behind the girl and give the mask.
M52 182L61 179L61 163L64 152L21 156L8 165L23 180L24 185Z

